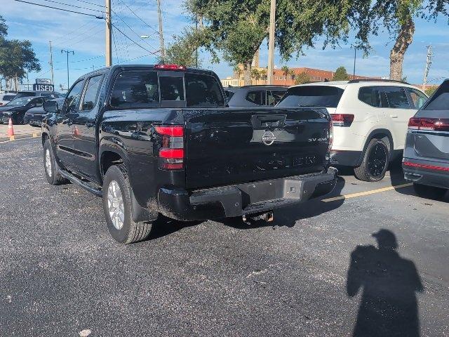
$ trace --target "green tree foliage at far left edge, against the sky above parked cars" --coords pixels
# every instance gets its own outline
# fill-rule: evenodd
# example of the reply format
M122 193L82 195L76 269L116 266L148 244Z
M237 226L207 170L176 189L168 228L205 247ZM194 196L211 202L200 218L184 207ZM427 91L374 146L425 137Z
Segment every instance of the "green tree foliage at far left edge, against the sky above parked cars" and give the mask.
M6 39L8 26L0 16L0 74L5 79L23 79L27 72L39 72L41 65L31 42Z

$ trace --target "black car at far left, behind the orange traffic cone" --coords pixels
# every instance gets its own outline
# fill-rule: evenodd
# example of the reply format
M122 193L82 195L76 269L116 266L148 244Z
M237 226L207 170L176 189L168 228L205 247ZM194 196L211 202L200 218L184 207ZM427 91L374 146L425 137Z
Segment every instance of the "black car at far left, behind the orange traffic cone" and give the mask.
M6 105L0 107L0 122L8 124L9 119L13 119L13 124L23 124L25 112L33 107L41 107L43 103L51 98L47 97L21 97L11 100Z

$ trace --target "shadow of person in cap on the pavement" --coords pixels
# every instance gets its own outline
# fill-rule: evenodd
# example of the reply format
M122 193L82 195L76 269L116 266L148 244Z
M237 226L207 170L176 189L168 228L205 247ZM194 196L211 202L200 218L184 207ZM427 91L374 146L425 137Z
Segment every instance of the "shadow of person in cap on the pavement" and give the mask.
M363 291L353 336L420 336L416 292L424 287L415 263L398 254L390 230L372 235L377 248L357 246L347 273L348 296Z

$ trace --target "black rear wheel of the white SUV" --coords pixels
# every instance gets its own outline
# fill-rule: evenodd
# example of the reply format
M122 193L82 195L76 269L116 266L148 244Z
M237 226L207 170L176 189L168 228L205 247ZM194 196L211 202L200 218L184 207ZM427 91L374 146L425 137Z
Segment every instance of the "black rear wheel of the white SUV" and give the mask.
M366 147L361 166L354 168L354 176L363 181L380 181L387 172L390 147L387 140L373 138Z

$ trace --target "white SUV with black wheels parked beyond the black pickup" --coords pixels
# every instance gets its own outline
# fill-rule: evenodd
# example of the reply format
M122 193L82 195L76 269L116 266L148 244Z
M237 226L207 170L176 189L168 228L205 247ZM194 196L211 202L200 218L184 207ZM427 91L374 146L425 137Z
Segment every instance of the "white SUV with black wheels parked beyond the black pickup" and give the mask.
M327 107L334 124L331 163L354 167L360 180L378 181L401 156L408 120L426 100L400 81L353 80L292 86L278 106Z

